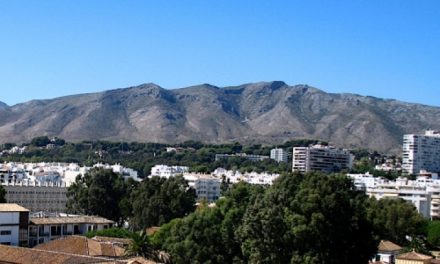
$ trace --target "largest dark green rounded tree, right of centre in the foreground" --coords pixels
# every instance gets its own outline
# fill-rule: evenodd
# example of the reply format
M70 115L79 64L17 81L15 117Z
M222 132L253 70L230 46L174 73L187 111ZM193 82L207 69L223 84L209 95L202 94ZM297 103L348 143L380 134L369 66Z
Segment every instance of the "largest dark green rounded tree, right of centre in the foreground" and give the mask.
M345 175L281 176L238 230L249 263L367 263L377 240Z

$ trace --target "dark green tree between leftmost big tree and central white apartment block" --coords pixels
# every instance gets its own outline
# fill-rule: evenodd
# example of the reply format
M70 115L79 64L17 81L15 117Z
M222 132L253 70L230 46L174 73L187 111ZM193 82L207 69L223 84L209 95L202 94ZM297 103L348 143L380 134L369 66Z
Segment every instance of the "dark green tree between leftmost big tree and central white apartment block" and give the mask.
M196 194L182 176L146 178L131 197L135 229L158 226L195 209Z

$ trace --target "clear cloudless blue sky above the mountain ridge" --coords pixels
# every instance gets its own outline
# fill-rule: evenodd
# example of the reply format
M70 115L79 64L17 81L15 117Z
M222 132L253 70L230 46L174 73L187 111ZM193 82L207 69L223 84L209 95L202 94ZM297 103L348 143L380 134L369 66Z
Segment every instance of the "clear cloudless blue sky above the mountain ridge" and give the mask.
M0 101L282 80L440 106L440 1L0 1Z

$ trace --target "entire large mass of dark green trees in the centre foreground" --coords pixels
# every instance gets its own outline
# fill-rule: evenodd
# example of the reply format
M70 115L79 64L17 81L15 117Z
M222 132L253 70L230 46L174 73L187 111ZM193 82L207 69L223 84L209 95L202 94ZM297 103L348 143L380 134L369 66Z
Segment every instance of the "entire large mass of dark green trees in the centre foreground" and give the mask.
M375 252L367 197L345 176L288 174L253 188L162 226L155 243L175 263L366 263Z

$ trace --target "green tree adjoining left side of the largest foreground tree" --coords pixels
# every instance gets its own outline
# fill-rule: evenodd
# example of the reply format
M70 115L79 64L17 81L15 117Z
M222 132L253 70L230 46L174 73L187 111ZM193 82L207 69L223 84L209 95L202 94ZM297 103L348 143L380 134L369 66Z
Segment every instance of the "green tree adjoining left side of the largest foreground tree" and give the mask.
M246 263L235 231L248 205L263 192L258 185L236 184L216 207L205 205L163 225L153 236L154 244L175 263Z

